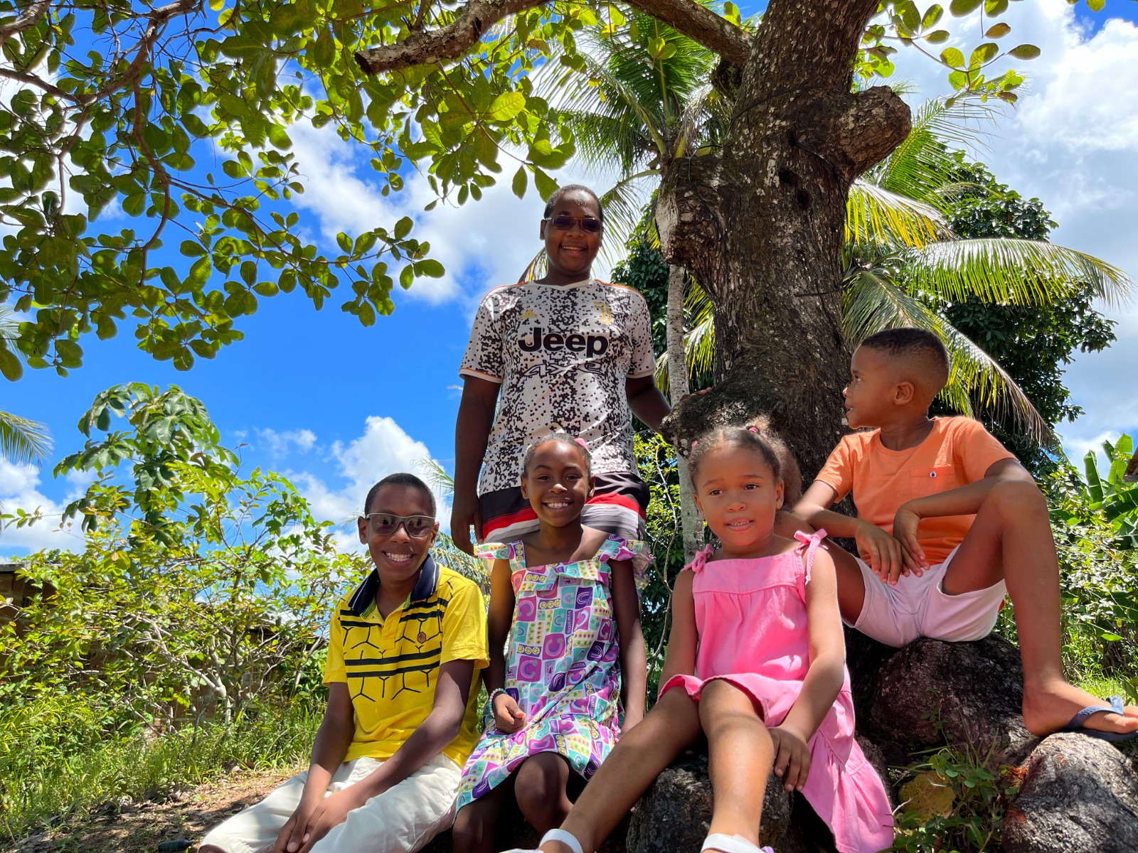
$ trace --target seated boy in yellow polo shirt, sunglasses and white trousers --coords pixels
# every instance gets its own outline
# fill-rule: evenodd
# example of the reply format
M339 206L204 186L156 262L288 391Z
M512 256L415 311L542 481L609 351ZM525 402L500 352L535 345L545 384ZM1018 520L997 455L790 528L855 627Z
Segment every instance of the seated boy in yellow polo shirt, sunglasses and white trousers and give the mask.
M200 853L413 853L454 819L478 740L483 596L431 558L438 522L422 480L380 480L364 513L376 568L332 613L308 770L209 833Z

